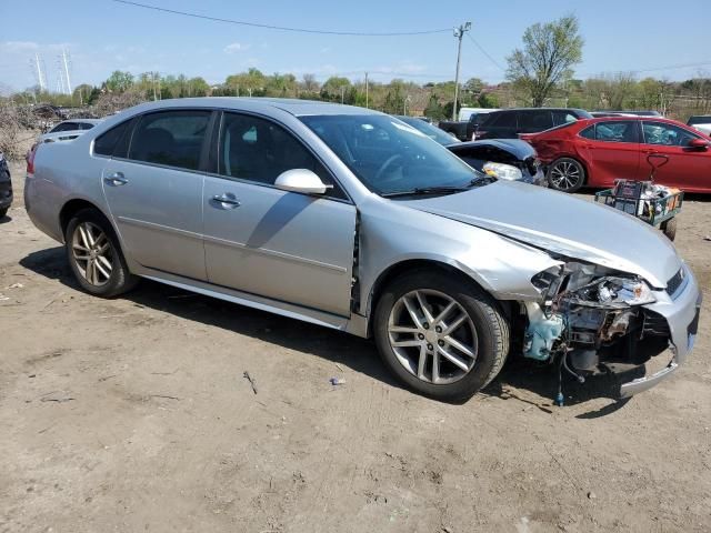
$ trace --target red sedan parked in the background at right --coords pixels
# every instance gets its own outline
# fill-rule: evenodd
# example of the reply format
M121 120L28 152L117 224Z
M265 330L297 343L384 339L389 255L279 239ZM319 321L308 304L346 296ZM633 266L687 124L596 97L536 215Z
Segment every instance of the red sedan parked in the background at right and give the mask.
M618 178L654 181L689 192L711 192L711 139L674 120L607 117L521 134L543 164L552 189L610 188Z

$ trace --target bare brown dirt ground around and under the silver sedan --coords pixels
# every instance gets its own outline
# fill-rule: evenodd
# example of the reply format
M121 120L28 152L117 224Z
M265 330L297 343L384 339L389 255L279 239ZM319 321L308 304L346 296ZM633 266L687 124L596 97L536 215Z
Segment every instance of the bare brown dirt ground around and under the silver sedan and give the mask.
M709 199L679 220L705 303L672 380L627 403L567 381L559 409L554 373L513 361L450 405L347 334L151 282L80 292L13 170L0 532L711 531Z

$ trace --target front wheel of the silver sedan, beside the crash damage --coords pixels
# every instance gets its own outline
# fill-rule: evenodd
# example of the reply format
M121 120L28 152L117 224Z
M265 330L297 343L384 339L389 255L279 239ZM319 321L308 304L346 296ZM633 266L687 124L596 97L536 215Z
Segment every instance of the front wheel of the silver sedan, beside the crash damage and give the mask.
M487 386L509 352L509 321L473 282L412 271L378 302L375 343L389 370L411 390L462 401Z

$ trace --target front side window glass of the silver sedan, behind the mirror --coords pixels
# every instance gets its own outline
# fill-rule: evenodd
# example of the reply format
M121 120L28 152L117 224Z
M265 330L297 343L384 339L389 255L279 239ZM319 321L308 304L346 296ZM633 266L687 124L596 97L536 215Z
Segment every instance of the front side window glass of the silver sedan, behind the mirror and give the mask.
M220 127L218 172L229 178L273 184L292 169L313 171L333 189L328 195L346 198L316 157L289 131L249 114L224 113Z

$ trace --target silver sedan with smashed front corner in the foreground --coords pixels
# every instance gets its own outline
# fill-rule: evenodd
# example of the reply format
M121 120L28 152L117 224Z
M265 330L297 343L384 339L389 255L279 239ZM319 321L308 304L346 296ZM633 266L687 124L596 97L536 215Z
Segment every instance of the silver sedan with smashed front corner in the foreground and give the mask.
M24 193L92 294L148 278L372 338L441 400L471 396L510 354L584 380L670 348L627 396L670 375L697 333L699 286L661 233L497 181L361 108L142 104L40 144Z

